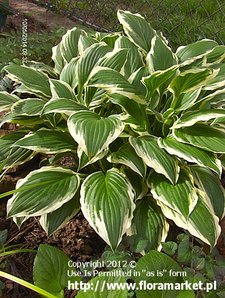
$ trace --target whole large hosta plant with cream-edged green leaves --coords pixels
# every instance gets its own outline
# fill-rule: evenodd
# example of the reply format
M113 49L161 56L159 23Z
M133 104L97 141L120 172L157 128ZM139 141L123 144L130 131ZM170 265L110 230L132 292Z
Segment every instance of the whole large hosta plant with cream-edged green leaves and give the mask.
M225 47L204 39L173 53L139 14L118 11L123 32L69 30L53 47L55 68L7 66L19 83L0 92L3 170L40 153L17 182L7 217L32 216L48 235L82 210L115 251L122 236L160 250L167 219L212 247L225 196ZM60 164L72 156L74 167Z

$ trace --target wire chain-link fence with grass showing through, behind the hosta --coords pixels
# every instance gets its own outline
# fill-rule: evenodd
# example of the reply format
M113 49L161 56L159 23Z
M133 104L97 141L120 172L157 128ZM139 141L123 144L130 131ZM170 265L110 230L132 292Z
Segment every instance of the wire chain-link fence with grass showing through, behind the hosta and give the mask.
M60 5L60 1L56 0ZM172 47L203 38L225 40L225 2L222 0L63 0L63 10L76 20L103 32L121 31L117 9L140 13L160 30Z

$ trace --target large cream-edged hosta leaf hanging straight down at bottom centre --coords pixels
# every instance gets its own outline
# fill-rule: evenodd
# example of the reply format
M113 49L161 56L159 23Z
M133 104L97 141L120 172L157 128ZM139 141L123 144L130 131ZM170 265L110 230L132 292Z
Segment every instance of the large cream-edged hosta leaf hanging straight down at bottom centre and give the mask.
M112 168L88 176L81 187L81 210L114 251L133 218L133 193L124 176Z

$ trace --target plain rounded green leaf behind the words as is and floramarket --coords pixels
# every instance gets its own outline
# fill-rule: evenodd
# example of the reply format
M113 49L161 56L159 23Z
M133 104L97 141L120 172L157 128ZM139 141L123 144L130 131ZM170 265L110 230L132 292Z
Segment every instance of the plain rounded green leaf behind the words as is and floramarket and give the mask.
M181 284L183 282L181 277L183 270L166 254L151 250L148 254L140 258L135 270L140 272L140 276L135 277L136 284L141 281L146 281L147 284L151 285L158 283L155 290L136 289L137 298L176 297L179 293L178 290L169 287L166 290L161 290L162 287L160 285L162 284ZM146 276L146 272L152 272L151 276L149 276L150 274ZM162 276L158 276L157 272L162 272ZM177 272L177 276L170 276L170 272Z

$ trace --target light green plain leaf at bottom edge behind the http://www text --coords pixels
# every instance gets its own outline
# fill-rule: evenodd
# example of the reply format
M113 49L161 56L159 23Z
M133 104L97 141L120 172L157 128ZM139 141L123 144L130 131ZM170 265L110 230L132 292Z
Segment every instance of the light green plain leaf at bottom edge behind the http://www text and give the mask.
M122 275L122 269L116 268L112 271L112 276L99 276L94 277L91 281L88 282L87 287L89 285L88 290L80 290L78 292L77 298L127 298L128 291L127 289L119 289L116 288L114 290L109 290L108 287L104 287L107 284L115 284L115 283L126 283L126 277ZM102 272L103 273L103 272ZM95 289L95 291L93 291Z

